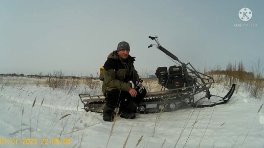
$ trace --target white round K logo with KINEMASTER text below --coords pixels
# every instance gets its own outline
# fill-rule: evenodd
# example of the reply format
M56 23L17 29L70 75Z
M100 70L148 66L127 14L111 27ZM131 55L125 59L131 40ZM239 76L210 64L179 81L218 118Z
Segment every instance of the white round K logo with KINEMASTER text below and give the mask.
M252 11L249 8L242 8L238 11L238 17L241 21L250 22L253 16ZM236 28L255 28L257 27L256 23L234 23L234 27Z

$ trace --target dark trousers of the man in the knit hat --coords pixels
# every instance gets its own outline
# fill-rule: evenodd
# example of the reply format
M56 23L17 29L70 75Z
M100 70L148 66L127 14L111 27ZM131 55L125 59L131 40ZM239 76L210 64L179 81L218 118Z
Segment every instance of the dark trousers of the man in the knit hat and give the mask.
M106 91L106 105L111 108L125 107L129 101L133 100L136 104L140 104L140 102L145 97L147 91L144 89L142 93L138 92L136 97L131 97L130 93L127 91L120 91L118 89L113 89L111 91Z

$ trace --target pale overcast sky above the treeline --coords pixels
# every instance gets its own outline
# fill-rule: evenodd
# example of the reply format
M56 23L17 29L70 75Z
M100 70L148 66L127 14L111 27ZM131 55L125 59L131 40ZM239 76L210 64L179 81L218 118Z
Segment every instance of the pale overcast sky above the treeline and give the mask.
M250 70L264 61L263 6L263 1L0 1L0 73L95 76L120 41L130 44L139 72L175 65L156 47L147 48L155 43L149 35L200 71L239 61ZM239 18L241 8L251 10L249 21Z

